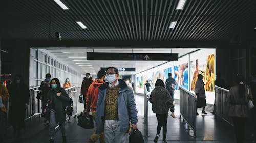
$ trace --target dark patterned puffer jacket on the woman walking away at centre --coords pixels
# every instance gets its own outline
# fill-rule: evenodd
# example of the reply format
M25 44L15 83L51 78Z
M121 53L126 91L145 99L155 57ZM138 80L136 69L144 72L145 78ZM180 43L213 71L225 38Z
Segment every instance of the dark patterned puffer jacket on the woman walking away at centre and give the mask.
M150 94L150 103L152 103L152 111L157 114L168 113L170 110L174 112L173 99L170 93L161 86L157 86Z

